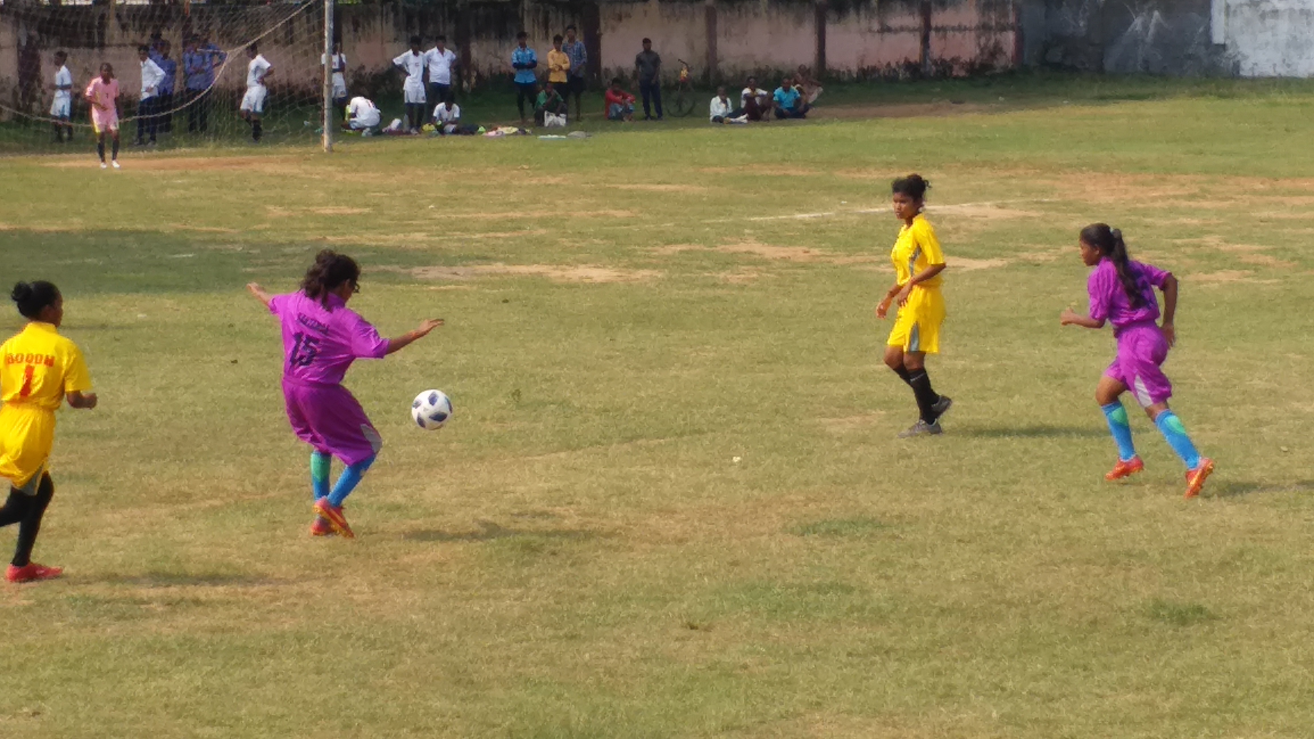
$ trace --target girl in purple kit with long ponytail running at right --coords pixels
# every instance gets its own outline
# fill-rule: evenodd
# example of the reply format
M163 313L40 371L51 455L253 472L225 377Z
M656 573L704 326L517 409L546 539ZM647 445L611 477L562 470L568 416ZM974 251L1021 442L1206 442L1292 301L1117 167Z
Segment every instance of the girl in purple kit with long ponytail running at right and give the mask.
M1118 464L1104 477L1118 480L1144 469L1131 444L1127 412L1118 400L1118 396L1131 391L1168 446L1187 464L1187 497L1196 497L1214 471L1214 462L1200 456L1177 414L1168 408L1172 383L1162 370L1168 348L1176 341L1172 320L1177 312L1177 279L1151 264L1133 262L1122 242L1122 231L1106 224L1081 229L1080 242L1081 260L1087 267L1095 267L1085 285L1091 296L1091 314L1081 316L1068 308L1059 322L1085 329L1102 329L1105 321L1113 323L1118 355L1095 391L1113 441L1118 444ZM1163 291L1162 325L1156 323L1159 301L1155 288Z

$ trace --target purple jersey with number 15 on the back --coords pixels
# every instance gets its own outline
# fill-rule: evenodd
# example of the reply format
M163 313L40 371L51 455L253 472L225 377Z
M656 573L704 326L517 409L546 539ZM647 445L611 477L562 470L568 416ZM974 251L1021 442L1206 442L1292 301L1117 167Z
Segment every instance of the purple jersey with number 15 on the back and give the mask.
M336 385L356 359L388 354L388 339L340 297L330 295L327 302L325 308L304 292L269 298L269 313L283 325L284 377Z

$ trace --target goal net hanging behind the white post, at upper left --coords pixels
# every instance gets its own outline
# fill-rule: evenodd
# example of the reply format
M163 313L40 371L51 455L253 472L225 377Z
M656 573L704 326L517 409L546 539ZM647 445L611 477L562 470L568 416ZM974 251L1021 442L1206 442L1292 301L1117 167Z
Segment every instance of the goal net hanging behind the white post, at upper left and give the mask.
M151 134L159 147L252 145L251 118L261 145L318 143L323 11L325 0L0 0L0 153L89 145L83 92L106 63L125 150L150 147ZM269 70L264 93L248 95L256 54Z

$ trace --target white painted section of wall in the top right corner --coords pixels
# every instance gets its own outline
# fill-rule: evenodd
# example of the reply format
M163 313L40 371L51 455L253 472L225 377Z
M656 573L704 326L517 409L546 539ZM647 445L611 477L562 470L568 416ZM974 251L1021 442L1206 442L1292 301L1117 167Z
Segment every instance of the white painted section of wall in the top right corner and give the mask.
M1213 0L1213 5L1212 22L1225 28L1215 25L1210 36L1225 41L1242 76L1314 76L1314 0Z

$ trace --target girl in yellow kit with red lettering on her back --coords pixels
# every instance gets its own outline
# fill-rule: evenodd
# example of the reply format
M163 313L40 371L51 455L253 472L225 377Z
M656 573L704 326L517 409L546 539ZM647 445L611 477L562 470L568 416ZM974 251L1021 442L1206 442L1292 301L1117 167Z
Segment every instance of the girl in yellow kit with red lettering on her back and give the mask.
M18 546L5 572L11 583L59 577L60 567L32 561L41 517L55 494L46 471L55 441L55 410L96 408L91 373L78 346L59 335L64 298L45 281L18 283L13 301L29 323L0 345L0 479L9 481L9 500L0 508L0 526L18 525Z

